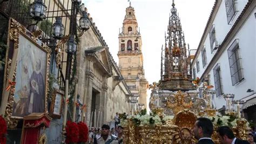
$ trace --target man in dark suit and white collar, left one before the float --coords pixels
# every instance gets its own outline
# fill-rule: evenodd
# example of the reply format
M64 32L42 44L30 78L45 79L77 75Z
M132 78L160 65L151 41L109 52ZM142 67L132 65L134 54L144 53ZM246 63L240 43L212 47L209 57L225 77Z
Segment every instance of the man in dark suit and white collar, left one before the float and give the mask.
M214 144L211 139L213 133L212 121L208 118L198 118L194 124L194 137L198 140L197 144Z

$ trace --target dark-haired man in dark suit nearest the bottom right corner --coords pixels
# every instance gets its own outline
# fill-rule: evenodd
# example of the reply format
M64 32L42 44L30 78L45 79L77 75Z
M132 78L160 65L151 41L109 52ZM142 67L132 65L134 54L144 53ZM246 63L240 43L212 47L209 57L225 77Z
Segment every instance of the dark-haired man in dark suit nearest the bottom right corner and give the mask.
M218 129L220 142L223 144L250 144L248 141L235 138L233 131L228 126L222 126Z

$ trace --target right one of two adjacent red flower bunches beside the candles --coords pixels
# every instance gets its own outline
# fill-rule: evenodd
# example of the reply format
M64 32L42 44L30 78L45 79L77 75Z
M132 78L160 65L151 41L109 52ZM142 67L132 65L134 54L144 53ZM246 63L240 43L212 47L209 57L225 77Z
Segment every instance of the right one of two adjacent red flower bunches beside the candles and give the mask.
M79 140L78 140L78 142L87 142L88 137L89 137L89 128L82 121L78 122L77 125L78 125L78 128L79 128Z

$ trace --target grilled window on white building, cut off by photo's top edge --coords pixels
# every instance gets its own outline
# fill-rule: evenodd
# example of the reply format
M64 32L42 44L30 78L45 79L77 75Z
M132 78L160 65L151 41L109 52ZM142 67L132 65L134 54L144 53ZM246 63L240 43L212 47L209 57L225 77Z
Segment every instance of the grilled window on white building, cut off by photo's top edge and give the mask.
M227 23L230 24L231 20L233 19L235 13L235 2L234 0L225 0L226 5L226 13L227 13Z

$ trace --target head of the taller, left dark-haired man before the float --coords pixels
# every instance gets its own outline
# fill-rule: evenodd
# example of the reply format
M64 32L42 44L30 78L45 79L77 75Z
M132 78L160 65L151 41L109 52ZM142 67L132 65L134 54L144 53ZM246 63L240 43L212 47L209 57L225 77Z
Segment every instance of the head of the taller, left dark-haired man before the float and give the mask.
M199 140L200 138L211 138L213 133L212 121L208 118L198 118L194 124L194 137Z

